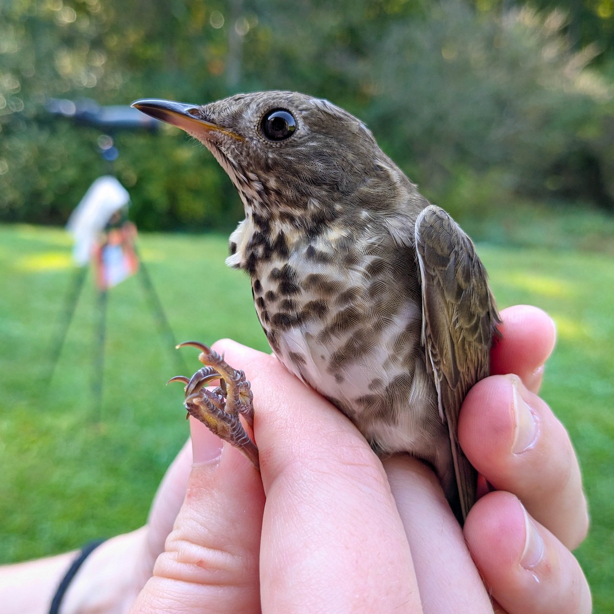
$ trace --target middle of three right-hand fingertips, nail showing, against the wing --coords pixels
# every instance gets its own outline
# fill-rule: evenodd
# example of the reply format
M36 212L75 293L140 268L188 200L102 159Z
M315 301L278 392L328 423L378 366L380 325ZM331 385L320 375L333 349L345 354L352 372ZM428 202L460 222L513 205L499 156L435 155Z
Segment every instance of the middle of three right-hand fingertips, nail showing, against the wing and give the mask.
M586 537L586 497L569 435L518 377L478 382L462 405L458 435L478 472L495 489L519 497L567 547Z

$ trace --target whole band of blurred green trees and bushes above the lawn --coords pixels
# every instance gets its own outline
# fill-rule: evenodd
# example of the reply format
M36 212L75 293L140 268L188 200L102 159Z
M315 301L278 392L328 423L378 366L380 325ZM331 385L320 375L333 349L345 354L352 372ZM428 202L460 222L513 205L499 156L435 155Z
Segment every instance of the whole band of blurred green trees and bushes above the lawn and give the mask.
M610 56L600 73L590 68L595 47L578 51L560 12L473 4L7 0L0 219L64 222L107 170L99 132L50 117L42 105L51 97L198 103L271 88L325 96L359 115L459 219L519 196L611 209ZM184 134L120 133L116 142L139 227L220 228L241 215L221 169Z

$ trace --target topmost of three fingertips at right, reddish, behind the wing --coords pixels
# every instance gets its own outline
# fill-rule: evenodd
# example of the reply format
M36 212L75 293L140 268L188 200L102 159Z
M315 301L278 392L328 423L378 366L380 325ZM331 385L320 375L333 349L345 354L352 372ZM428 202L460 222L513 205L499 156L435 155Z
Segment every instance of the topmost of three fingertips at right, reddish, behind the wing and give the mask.
M503 309L501 338L492 346L491 374L516 373L533 392L542 383L544 363L556 343L556 326L542 309L516 305Z

